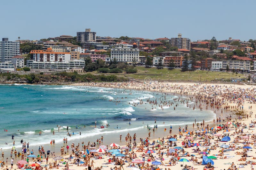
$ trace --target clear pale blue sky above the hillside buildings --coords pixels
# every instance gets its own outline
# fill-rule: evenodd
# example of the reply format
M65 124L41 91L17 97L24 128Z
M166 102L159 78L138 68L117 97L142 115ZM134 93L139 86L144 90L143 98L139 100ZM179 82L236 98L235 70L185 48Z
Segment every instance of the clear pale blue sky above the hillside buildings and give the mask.
M246 0L5 0L0 38L76 36L91 28L97 36L191 40L256 39L254 7Z

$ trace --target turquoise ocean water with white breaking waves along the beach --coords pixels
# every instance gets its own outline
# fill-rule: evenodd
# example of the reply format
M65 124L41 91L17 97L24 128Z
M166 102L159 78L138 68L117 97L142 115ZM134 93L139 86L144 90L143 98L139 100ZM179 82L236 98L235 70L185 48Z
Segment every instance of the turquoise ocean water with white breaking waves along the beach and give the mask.
M109 141L105 145L109 145L110 142L118 142L120 134L124 138L128 132L145 138L148 134L147 124L153 127L155 119L159 127L157 131L161 131L162 136L162 130L169 129L170 125L174 130L178 129L178 126L185 127L186 124L193 123L195 118L207 122L216 116L210 110L189 109L186 102L179 103L176 110L173 109L174 105L164 106L164 110L159 106L153 106L156 109L152 110L148 103L134 107L133 105L140 100L146 102L149 98L156 100L163 96L147 91L19 84L0 85L0 91L0 108L3 108L0 109L0 148L8 151L13 146L12 134L15 136L16 149L21 148L21 139L29 142L30 148L34 149L40 145L44 145L45 148L51 147L52 139L56 145L62 145L63 138L68 138L68 142L87 143L104 136ZM174 98L177 96L169 94L166 100L173 101ZM159 102L158 99L157 101ZM92 127L95 121L96 129ZM106 124L110 126L106 128ZM57 125L69 126L69 132L74 131L78 134L68 137L66 128L60 128L58 131ZM101 129L101 125L105 128ZM119 129L114 128L117 125ZM81 128L76 129L76 126ZM42 131L41 136L39 131ZM53 131L55 135L52 134ZM59 148L57 150L59 151Z

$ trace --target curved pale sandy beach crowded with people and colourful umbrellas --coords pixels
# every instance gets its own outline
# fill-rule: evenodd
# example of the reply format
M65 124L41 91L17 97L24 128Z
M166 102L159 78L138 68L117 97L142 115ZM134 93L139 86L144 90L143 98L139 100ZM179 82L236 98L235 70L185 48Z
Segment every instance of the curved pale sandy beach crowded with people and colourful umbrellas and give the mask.
M201 127L201 122L203 120L196 120L196 124L199 123L199 128L197 125L193 123L188 125L187 133L185 131L182 132L182 129L186 127L181 126L181 132L179 133L179 129L172 129L171 137L174 139L172 143L169 142L170 134L169 128L166 126L165 137L164 140L162 138L143 138L142 142L140 141L140 136L136 136L137 145L130 145L128 143L126 145L122 145L119 148L120 152L125 156L123 157L114 157L114 159L119 158L117 163L110 162L109 159L113 159L113 156L109 154L110 152L106 152L101 154L99 152L90 152L90 156L82 151L82 145L78 147L80 151L80 160L84 161L84 164L80 164L81 166L77 166L75 163L75 159L78 158L76 154L72 154L74 157L72 159L68 159L69 154L63 155L65 159L60 160L60 166L58 169L88 169L86 162L90 162L93 165L93 168L98 169L130 169L135 168L141 169L151 169L151 165L153 161L160 162L160 165L157 165L160 169L182 169L181 165L183 162L178 160L188 159L189 162L184 162L184 166L187 165L187 169L203 169L206 165L202 165L202 156L214 156L216 159L211 159L214 162L213 166L208 169L236 169L240 167L241 169L251 169L252 164L254 164L256 158L255 155L255 129L254 122L256 121L256 109L255 109L255 100L254 96L256 96L256 92L254 86L244 85L244 84L195 84L195 83L144 83L144 82L123 82L123 83L76 83L72 84L72 86L97 86L97 87L108 87L108 88L120 88L120 89L133 89L133 90L145 90L145 91L154 91L159 93L171 93L173 95L181 95L190 98L194 103L188 105L188 107L200 108L204 110L213 110L216 112L216 119L213 124L211 123L203 123ZM194 106L193 106L194 105ZM225 114L228 113L229 115ZM188 115L189 116L189 115ZM231 117L228 117L231 116ZM217 123L218 118L218 123ZM223 120L224 119L224 120ZM230 122L230 123L228 123ZM209 126L207 127L207 124ZM218 126L219 124L223 124L221 128ZM225 127L227 126L227 127ZM206 128L206 129L204 129ZM202 130L204 129L204 130ZM196 133L197 130L198 133ZM227 132L224 132L227 131ZM178 134L174 135L174 132L178 132ZM151 131L152 133L152 131ZM156 133L163 133L157 131ZM130 134L132 137L134 134ZM168 135L168 136L167 136ZM222 139L225 136L228 136L230 140L222 142L218 139ZM124 136L123 136L124 138ZM225 137L227 138L227 137ZM145 139L145 140L144 140ZM124 140L124 139L122 139ZM176 141L177 140L177 141ZM180 147L180 149L175 149L174 142L176 143L176 147ZM152 145L153 143L153 145ZM105 143L104 143L105 144ZM119 145L119 143L117 143ZM191 146L193 144L197 144L199 146ZM77 143L74 143L74 148L76 148ZM84 144L85 149L94 149L87 148L87 144ZM110 147L108 145L108 150L114 149L114 147ZM228 145L225 148L220 147L221 145ZM243 147L247 146L249 149L244 149ZM123 149L120 149L122 148ZM126 149L127 147L127 149ZM223 146L224 147L224 146ZM227 148L226 148L227 147ZM252 148L250 148L252 147ZM104 148L104 147L103 147ZM129 148L129 149L128 149ZM200 151L196 151L196 149ZM66 151L66 148L64 148ZM96 146L95 149L98 149ZM152 150L152 157L149 157L147 152L148 150ZM170 152L169 152L170 151ZM72 152L72 150L71 150ZM105 152L105 151L102 151ZM200 152L203 152L203 154ZM93 155L91 155L93 153ZM145 156L143 155L145 154ZM35 155L37 155L35 153ZM192 156L194 155L194 156ZM60 156L57 155L56 156ZM76 157L75 157L76 156ZM145 162L143 164L133 163L136 159L142 160L145 158ZM25 157L24 157L25 158ZM48 162L52 162L52 157L49 157ZM89 159L90 158L90 159ZM100 159L99 159L100 158ZM129 159L132 158L132 161ZM120 164L120 159L123 162L123 168L118 165ZM5 159L3 159L5 161ZM26 158L24 159L26 160ZM93 160L93 162L92 162ZM205 159L206 160L206 159ZM207 159L208 160L208 159ZM8 164L11 160L8 160ZM66 161L67 163L63 164L62 162ZM31 162L31 159L29 163ZM135 161L136 162L136 161ZM42 159L41 165L45 165L45 159ZM48 164L49 164L48 163ZM57 160L59 163L59 160ZM13 168L17 168L14 162ZM115 165L117 164L117 165ZM67 166L68 167L65 167ZM184 167L183 166L183 167ZM5 165L4 165L5 167ZM10 164L8 165L10 168ZM115 168L116 167L116 168ZM50 169L51 166L47 166L44 169ZM56 169L56 167L53 167ZM90 169L90 167L89 167Z

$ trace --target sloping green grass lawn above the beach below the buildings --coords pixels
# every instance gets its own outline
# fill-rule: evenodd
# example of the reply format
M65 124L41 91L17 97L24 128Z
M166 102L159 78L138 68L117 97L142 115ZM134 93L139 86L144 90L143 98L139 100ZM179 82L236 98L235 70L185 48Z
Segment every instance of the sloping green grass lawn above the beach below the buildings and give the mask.
M156 67L145 68L136 67L136 74L126 74L127 77L135 79L152 79L152 80L178 80L178 81L230 81L231 79L246 78L244 74L235 74L227 72L213 71L189 71L181 72L180 69L169 70L167 68L157 69Z

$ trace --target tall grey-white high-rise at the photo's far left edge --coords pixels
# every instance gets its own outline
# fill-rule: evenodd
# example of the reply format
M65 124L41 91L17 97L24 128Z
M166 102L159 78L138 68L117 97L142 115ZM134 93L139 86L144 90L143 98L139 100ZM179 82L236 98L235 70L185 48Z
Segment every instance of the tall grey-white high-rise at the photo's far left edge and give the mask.
M20 42L3 38L0 41L0 62L11 62L16 55L20 55Z

